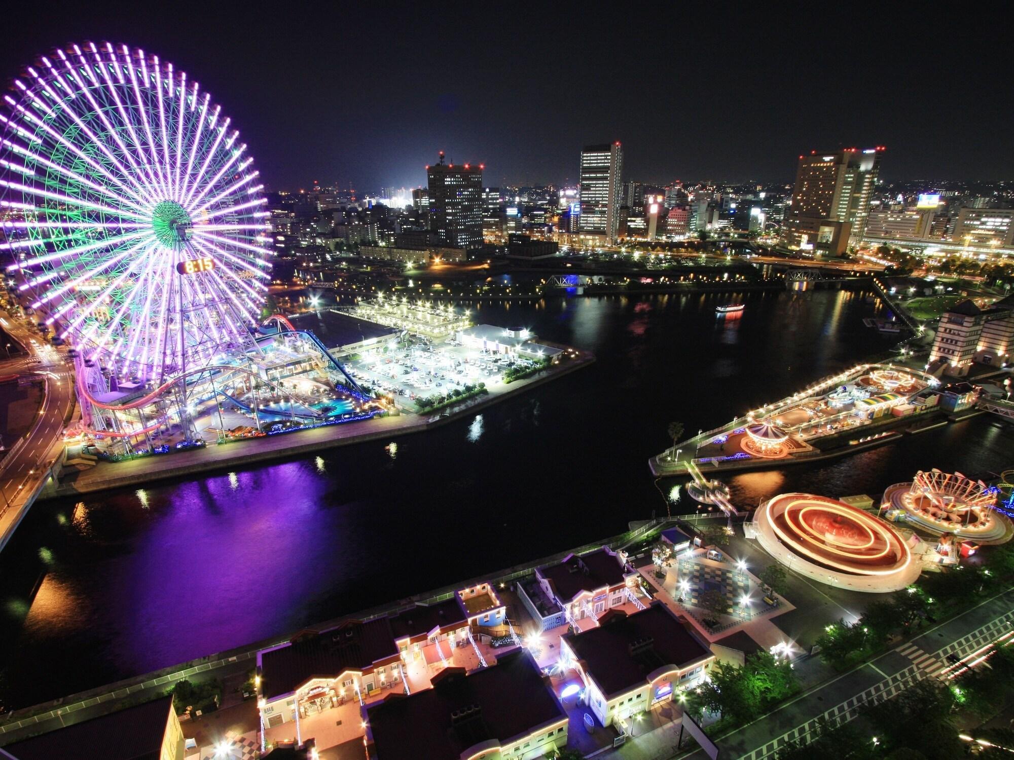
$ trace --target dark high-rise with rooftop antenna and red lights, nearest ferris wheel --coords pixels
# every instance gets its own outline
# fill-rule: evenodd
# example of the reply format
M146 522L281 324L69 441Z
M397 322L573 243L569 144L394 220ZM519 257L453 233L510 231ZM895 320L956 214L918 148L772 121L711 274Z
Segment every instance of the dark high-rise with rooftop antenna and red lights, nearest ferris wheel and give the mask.
M426 167L430 195L430 229L440 240L456 248L483 244L484 164L445 163Z

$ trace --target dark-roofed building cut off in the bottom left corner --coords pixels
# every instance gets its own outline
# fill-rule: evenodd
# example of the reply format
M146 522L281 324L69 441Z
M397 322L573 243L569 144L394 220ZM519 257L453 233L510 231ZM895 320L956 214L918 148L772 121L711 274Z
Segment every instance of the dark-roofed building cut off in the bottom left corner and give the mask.
M172 697L82 720L0 750L5 760L83 756L102 760L183 760L184 732Z

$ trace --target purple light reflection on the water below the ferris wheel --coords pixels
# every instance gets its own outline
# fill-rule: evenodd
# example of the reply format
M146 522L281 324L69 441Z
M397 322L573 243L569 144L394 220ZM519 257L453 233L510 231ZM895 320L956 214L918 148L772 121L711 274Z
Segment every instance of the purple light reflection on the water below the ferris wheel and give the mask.
M348 561L346 513L324 506L327 488L309 463L297 461L184 482L171 503L154 496L138 542L92 579L106 596L73 619L86 627L93 615L118 611L110 616L117 621L111 643L128 671L256 641L278 633L283 621L281 630L297 627L298 614L285 621L278 611L312 598L320 579L341 576ZM125 501L103 505L96 495L84 504L92 516L136 509L136 500ZM51 577L59 584L59 568ZM259 608L272 612L256 614ZM24 633L46 638L56 632L53 616L39 612L28 615ZM71 632L59 628L61 636Z

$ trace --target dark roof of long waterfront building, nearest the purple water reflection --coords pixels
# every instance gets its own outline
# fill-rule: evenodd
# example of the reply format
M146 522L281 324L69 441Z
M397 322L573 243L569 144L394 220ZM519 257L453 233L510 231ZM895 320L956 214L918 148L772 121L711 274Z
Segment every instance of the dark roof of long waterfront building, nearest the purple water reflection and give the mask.
M270 700L295 691L314 676L334 678L346 670L365 670L397 654L387 618L365 623L349 620L337 628L262 653L262 694Z

